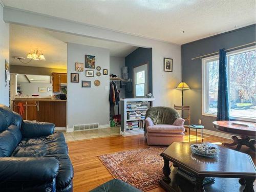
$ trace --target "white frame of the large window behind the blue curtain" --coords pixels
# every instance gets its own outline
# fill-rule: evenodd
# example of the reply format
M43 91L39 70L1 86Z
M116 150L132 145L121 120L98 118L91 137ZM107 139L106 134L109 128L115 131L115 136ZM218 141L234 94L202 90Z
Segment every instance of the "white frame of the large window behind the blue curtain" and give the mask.
M255 51L256 47L255 46L250 46L247 48L243 48L243 49L237 49L234 51L230 51L228 53L226 53L227 56L227 68L228 68L228 89L230 88L229 84L229 56L232 55L237 55L237 54L241 54L244 52L249 52L249 51ZM210 57L205 57L202 58L202 115L203 116L210 116L210 117L217 117L217 114L212 114L212 113L207 113L208 111L208 100L209 100L209 91L208 91L208 83L209 83L209 79L208 79L208 65L207 62L209 61L214 61L214 60L219 60L219 55L214 55L214 56L210 56ZM229 92L229 90L228 90ZM255 121L255 118L249 118L249 117L238 117L238 116L231 116L230 115L230 119L234 119L234 120L244 120L244 121Z

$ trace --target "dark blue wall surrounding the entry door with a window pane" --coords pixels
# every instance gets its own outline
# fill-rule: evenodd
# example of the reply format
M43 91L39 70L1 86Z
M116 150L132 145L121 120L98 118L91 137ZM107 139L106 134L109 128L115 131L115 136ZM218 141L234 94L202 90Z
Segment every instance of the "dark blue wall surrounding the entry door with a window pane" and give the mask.
M125 57L125 66L128 67L129 78L133 80L133 68L148 63L148 93L152 93L152 48L138 48ZM153 93L152 93L153 94ZM133 98L133 93L125 93L126 98Z

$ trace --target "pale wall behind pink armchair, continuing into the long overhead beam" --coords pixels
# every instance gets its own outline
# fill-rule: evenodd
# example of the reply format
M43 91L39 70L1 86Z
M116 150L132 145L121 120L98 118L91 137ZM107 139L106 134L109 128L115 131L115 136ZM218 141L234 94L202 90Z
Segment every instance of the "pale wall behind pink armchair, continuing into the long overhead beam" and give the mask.
M175 89L177 84L181 81L180 45L12 8L4 9L4 19L9 23L30 25L79 36L123 42L137 47L152 48L155 106L173 106L174 104L181 104L181 91ZM40 20L40 22L38 22L38 20ZM172 73L163 71L164 57L173 58ZM82 60L82 62L84 61ZM68 114L68 116L70 115Z

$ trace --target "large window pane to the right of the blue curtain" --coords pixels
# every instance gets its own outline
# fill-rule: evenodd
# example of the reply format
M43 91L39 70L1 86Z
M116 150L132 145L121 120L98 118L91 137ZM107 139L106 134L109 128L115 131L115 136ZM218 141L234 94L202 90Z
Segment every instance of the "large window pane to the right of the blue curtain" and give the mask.
M229 56L230 116L255 118L256 51Z

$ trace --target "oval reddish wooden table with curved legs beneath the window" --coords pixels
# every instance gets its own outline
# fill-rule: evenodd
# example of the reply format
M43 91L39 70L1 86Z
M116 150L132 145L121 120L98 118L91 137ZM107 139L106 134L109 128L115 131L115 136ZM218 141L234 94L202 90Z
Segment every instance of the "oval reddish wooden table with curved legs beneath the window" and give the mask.
M242 145L246 145L251 148L252 151L255 152L255 140L250 140L250 136L255 136L256 133L256 124L248 122L250 124L254 124L253 127L246 127L241 125L233 125L231 124L234 121L214 121L214 127L220 131L231 133L234 135L239 135L241 139L237 136L232 136L231 138L234 140L232 143L222 143L226 146L237 145L236 150L240 151Z

